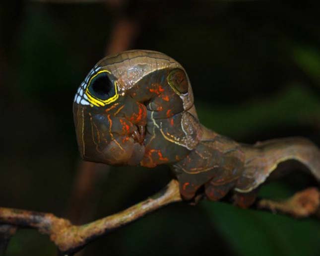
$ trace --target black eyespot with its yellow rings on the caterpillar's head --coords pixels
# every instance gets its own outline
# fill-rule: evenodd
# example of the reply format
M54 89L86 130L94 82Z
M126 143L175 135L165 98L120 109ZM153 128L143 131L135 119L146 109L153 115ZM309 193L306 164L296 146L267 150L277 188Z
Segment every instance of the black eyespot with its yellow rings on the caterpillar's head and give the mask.
M108 70L101 70L90 78L85 94L92 105L103 107L119 98L117 81L110 74Z

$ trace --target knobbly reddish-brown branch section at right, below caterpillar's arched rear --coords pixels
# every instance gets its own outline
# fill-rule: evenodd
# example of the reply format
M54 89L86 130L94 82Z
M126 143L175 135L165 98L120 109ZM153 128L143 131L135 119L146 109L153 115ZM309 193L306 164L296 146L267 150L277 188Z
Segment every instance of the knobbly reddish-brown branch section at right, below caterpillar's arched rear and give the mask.
M257 203L257 207L272 212L280 211L296 218L305 218L319 211L320 192L317 188L308 188L283 201L262 199Z

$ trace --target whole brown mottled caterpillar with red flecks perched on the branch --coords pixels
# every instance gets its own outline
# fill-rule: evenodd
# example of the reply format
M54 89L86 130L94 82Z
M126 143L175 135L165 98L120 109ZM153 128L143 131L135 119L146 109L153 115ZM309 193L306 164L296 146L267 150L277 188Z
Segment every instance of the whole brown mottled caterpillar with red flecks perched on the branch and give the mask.
M111 85L104 87L107 83ZM109 92L113 85L117 92ZM88 88L96 104L88 97L81 103ZM211 200L231 191L236 204L248 207L256 188L289 159L302 162L320 179L320 153L308 139L244 145L203 127L185 69L162 53L134 50L108 56L94 66L79 90L73 114L82 158L151 168L168 164L184 199L192 199L203 186Z

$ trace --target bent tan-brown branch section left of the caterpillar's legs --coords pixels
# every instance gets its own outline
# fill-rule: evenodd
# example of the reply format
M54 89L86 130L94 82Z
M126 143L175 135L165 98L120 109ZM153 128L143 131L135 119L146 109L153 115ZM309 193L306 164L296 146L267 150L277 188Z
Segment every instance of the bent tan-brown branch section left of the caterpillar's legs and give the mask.
M51 213L1 207L0 223L35 228L39 232L49 235L61 252L72 254L111 230L124 226L164 205L181 200L178 182L172 180L164 190L154 196L124 211L85 225L72 225L67 219L58 218Z

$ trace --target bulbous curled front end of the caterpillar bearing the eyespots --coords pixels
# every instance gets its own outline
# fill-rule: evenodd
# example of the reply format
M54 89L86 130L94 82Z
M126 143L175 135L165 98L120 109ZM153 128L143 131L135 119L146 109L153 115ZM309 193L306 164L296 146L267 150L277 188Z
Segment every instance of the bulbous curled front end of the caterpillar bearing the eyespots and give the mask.
M201 137L185 69L154 51L127 51L98 62L74 97L83 159L110 165L175 163Z

